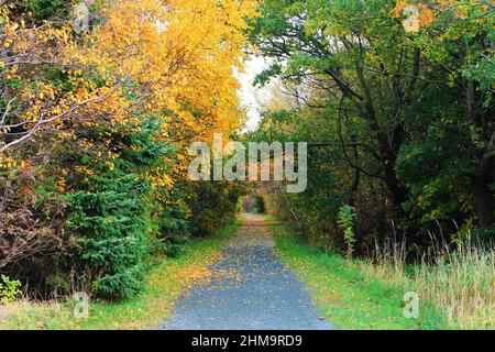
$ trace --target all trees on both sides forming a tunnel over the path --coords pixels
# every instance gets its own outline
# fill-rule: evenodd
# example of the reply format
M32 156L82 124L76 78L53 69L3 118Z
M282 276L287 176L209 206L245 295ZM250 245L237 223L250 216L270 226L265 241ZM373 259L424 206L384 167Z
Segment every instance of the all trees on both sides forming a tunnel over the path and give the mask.
M213 132L308 142L305 193L264 184L242 206L336 252L342 219L356 255L493 241L493 2L421 1L417 32L407 1L220 2L95 0L80 31L73 1L1 1L1 274L32 297L139 293L150 256L232 222L252 191L188 179L188 146ZM246 52L284 94L240 135Z

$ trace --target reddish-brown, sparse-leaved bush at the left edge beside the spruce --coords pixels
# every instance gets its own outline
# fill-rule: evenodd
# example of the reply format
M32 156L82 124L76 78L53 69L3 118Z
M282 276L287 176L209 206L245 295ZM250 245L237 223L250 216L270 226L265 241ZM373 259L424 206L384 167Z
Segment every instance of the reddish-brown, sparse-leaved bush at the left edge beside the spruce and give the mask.
M64 230L69 204L57 188L53 164L0 170L0 272L24 278L35 296L44 295L54 261L74 244Z

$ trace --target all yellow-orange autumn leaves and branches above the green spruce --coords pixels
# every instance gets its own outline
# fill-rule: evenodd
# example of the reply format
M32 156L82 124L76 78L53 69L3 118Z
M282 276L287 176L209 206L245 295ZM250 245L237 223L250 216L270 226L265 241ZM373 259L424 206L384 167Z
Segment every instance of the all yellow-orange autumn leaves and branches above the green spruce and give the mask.
M4 111L0 133L16 134L3 139L3 152L50 131L97 153L101 145L91 145L84 131L101 123L135 127L143 114L160 118L162 136L178 143L178 148L191 139L229 134L241 125L244 116L233 67L242 69L246 45L242 31L245 19L256 15L256 1L94 4L100 8L100 24L78 34L70 21L26 26L28 14L14 23L9 9L2 10L4 78L30 86L10 90L16 111L15 116ZM36 70L53 67L68 77L72 89L40 79Z

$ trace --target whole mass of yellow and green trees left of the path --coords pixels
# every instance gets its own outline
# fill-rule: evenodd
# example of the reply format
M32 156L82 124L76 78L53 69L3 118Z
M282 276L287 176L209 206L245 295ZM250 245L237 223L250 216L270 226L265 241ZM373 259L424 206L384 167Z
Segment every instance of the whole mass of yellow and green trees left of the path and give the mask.
M1 2L0 272L41 296L128 297L148 253L208 234L193 217L213 231L234 209L228 184L196 206L186 146L243 122L233 67L256 3L85 4L79 23L70 1Z

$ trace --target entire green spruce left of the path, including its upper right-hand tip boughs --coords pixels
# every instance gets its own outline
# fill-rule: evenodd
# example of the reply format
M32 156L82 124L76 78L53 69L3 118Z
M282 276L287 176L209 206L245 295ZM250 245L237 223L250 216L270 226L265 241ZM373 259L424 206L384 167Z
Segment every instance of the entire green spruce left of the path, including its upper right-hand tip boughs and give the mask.
M157 228L151 212L153 189L144 172L172 152L148 138L157 130L153 121L131 136L113 136L121 158L82 158L84 178L67 196L73 208L67 228L77 245L73 265L82 280L79 285L100 297L128 298L142 288L151 231Z

